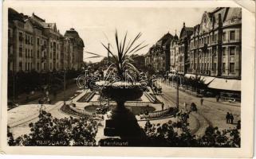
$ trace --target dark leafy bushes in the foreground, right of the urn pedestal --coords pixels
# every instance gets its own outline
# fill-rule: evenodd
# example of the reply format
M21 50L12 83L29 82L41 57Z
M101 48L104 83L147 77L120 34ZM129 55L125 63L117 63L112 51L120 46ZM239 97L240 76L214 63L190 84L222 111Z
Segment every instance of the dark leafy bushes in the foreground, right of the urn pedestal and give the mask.
M218 127L208 126L203 137L196 138L189 130L188 113L180 113L175 122L152 124L149 121L144 131L149 138L149 146L175 147L240 147L238 129L219 131Z

